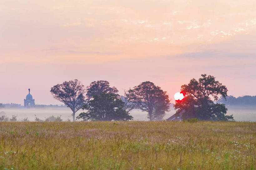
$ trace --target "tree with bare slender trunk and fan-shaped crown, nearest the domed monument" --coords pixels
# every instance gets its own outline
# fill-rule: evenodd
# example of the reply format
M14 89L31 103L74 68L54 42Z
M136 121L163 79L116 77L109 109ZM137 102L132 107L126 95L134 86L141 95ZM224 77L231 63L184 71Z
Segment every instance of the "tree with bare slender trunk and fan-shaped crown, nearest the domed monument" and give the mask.
M75 79L62 84L57 84L51 88L53 98L64 103L73 112L73 121L75 121L75 113L85 104L85 89L83 84Z

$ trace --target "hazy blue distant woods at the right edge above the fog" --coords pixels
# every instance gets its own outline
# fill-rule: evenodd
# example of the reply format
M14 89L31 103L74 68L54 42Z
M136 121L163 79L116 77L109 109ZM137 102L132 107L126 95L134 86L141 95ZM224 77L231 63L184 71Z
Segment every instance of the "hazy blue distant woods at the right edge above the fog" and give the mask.
M256 96L243 96L235 98L234 96L227 96L227 100L223 97L219 98L219 103L226 105L256 105Z

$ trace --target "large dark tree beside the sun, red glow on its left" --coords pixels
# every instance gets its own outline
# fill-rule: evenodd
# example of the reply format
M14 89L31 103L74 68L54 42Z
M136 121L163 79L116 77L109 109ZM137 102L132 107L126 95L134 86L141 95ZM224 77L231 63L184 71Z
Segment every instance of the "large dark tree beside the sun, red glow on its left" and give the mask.
M198 118L200 120L233 120L233 116L225 115L227 108L217 102L219 96L227 97L227 88L211 75L202 74L202 78L191 79L188 84L181 86L185 96L176 100L174 108L176 115L182 114L183 119Z

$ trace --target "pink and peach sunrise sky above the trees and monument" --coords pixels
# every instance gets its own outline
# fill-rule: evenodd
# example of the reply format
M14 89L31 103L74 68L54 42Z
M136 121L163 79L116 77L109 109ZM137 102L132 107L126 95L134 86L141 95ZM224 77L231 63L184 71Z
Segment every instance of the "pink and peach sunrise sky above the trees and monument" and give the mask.
M79 79L169 94L210 74L256 95L256 1L0 0L0 103L61 104L50 88Z

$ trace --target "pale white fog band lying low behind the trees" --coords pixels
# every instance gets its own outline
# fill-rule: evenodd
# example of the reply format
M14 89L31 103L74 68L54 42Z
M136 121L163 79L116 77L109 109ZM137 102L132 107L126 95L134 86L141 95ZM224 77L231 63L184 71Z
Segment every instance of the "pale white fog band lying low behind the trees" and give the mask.
M227 115L233 114L235 121L256 121L256 106L227 106ZM3 113L4 112L4 113ZM83 110L79 110L76 116ZM169 118L175 113L175 110L171 107L170 112L166 113L164 119ZM61 116L63 121L70 119L72 121L72 112L69 108L22 108L22 109L1 109L0 116L5 115L8 118L12 118L12 115L17 116L17 121L22 121L24 118L28 118L29 121L35 121L35 115L37 118L45 120L50 116ZM133 120L147 121L147 113L140 110L133 110L130 112L133 116Z

